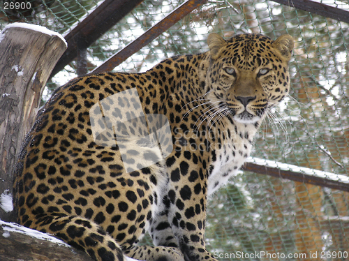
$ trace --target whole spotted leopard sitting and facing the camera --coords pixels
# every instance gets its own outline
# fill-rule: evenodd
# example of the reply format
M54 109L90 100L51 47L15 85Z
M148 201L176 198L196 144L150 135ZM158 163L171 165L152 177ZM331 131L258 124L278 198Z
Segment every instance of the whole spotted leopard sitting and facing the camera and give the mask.
M17 156L17 222L98 261L216 261L205 246L207 200L288 96L295 43L211 33L207 45L54 91ZM145 233L151 246L140 244Z

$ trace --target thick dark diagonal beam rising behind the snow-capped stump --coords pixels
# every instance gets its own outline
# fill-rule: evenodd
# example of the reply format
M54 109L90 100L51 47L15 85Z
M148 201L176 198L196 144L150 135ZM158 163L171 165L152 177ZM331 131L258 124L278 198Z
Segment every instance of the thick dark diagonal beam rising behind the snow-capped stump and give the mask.
M144 0L105 0L101 3L64 37L68 43L68 49L59 59L50 77L73 61L77 57L78 49L83 50L89 47L142 1Z

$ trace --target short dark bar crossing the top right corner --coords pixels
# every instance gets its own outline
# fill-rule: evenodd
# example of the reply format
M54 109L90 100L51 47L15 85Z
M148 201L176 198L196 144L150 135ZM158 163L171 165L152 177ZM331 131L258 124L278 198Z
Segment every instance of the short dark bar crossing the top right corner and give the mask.
M349 12L340 8L327 6L310 0L272 0L285 6L298 8L310 13L322 15L341 22L349 23Z

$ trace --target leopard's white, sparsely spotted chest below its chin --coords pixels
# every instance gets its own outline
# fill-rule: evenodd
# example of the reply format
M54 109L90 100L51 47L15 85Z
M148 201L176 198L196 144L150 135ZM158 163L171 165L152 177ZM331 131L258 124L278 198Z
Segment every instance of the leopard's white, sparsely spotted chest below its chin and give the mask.
M247 130L236 131L237 135L230 137L216 149L216 161L211 161L211 173L208 179L208 195L227 184L230 177L235 176L239 168L250 156L255 132Z

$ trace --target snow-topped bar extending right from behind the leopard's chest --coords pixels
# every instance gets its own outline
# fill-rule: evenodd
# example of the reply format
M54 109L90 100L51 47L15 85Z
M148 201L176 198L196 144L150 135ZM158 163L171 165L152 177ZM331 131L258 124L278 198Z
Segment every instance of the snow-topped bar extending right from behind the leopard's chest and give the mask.
M265 163L260 163L260 161ZM288 168L290 170L286 170L286 167L281 166L289 166ZM299 172L292 169L299 169ZM330 172L312 170L306 167L258 160L258 163L253 161L246 162L242 170L349 192L349 177Z

